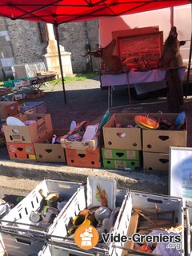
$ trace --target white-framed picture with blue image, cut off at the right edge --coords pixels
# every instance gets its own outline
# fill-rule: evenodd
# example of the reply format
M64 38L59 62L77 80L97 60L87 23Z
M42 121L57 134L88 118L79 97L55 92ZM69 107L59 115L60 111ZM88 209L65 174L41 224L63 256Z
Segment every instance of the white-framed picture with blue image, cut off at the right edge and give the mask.
M169 193L185 201L192 198L192 148L170 146Z

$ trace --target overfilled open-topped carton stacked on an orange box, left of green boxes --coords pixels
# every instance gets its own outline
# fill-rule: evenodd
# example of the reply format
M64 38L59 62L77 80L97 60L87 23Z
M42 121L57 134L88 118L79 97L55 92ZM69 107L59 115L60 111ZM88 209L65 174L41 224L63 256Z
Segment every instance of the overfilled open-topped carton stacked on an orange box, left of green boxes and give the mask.
M77 141L76 136L79 136L81 140L86 125L86 121L81 122L74 130L70 130L68 134L61 138L62 147L66 151L66 162L68 166L100 168L102 166L102 132L98 130L94 138L86 140L86 142ZM76 140L71 141L69 137L76 137Z

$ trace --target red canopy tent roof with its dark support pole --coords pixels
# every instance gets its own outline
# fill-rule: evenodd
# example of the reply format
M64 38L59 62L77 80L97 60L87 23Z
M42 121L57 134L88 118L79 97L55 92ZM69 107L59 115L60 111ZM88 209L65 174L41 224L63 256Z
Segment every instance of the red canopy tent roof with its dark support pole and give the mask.
M192 0L1 0L0 16L13 20L23 19L31 22L52 23L58 29L58 25L65 22L82 22L123 14L134 14L190 4L191 2ZM56 32L62 74L58 30ZM62 86L66 102L63 75Z

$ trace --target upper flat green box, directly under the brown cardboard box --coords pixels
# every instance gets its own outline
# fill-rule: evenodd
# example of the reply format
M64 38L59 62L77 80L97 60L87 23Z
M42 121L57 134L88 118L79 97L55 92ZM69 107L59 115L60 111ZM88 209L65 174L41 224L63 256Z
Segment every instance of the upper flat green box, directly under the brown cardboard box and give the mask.
M139 160L139 150L115 150L102 147L102 158L114 160Z

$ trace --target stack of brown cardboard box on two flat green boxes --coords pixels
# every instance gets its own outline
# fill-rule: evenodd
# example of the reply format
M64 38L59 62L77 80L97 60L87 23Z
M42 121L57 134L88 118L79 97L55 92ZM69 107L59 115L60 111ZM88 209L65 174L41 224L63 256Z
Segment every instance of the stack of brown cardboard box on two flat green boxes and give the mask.
M142 129L135 114L114 114L102 128L102 162L106 169L135 170L142 166Z

